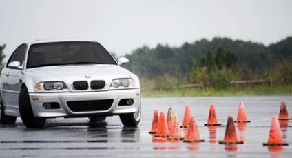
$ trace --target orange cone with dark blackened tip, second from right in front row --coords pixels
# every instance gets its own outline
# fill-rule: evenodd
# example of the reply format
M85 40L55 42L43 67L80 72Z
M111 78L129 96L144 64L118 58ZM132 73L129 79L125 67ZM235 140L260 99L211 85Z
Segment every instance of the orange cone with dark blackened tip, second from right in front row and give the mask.
M218 141L219 144L243 144L243 141L239 141L236 134L236 126L232 117L228 117L227 126L225 130L224 140Z

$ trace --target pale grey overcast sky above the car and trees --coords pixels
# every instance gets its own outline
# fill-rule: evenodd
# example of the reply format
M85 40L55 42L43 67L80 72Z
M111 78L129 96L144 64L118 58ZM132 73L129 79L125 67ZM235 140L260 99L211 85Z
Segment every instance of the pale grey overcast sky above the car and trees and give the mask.
M220 36L267 45L292 35L291 0L0 0L0 8L6 55L34 39L95 39L121 56L158 43Z

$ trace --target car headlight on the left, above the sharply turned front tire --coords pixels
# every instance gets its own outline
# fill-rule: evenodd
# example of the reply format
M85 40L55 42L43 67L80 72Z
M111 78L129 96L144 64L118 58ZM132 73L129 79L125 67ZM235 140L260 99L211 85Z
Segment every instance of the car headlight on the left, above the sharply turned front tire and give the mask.
M36 92L48 92L51 90L67 89L67 86L63 81L45 81L36 83L34 89L36 90Z

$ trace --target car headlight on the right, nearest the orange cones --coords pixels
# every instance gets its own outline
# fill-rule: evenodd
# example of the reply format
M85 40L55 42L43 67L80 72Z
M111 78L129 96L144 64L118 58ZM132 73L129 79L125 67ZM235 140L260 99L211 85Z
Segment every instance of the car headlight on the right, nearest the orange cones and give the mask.
M116 88L136 88L136 83L134 79L114 79L110 84L110 89Z

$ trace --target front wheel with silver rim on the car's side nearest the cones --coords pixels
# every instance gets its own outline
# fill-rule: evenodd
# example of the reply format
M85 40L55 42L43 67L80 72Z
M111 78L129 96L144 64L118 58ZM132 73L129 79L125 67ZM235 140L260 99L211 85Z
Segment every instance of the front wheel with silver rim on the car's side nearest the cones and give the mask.
M141 119L141 105L139 106L138 112L121 114L120 119L124 126L136 127Z

